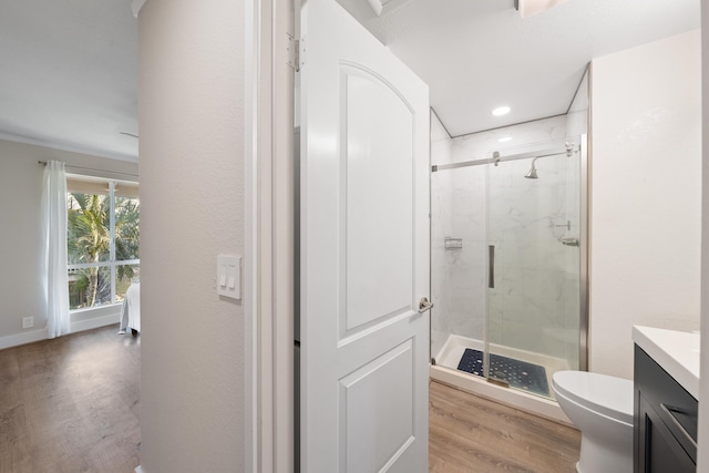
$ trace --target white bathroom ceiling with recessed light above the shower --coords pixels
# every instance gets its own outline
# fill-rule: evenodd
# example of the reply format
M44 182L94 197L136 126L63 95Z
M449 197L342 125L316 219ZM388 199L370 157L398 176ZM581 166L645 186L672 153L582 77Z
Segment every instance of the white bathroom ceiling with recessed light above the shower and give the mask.
M338 1L429 84L452 136L564 114L592 59L700 25L699 0L568 0L526 19L514 0L410 0L380 18Z

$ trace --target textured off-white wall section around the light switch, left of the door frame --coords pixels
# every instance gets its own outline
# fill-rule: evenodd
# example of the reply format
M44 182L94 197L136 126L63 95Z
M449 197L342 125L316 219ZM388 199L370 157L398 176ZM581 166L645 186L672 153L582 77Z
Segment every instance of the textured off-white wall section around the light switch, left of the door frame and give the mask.
M142 469L244 471L244 6L151 0L138 17Z

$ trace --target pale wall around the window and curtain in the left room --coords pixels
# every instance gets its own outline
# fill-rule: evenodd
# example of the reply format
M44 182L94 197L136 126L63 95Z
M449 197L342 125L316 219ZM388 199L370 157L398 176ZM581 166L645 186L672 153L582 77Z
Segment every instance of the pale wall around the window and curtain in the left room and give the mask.
M0 140L0 349L47 338L41 299L41 197L44 167L38 161L137 175L137 164L43 146ZM69 169L89 173L86 171ZM100 172L93 174L101 174ZM104 174L107 175L107 174ZM115 176L114 176L115 177ZM91 319L109 316L119 321L120 306L74 312L73 330L91 327ZM22 317L34 317L34 327L22 329Z

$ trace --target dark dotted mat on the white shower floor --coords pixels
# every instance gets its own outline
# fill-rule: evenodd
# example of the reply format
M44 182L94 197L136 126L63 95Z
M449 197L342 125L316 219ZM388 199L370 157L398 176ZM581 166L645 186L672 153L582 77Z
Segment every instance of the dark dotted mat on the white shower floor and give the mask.
M484 377L483 352L466 348L458 369L479 377ZM549 395L546 370L538 364L515 360L501 354L490 354L490 376L506 381L512 388L530 391L535 394Z

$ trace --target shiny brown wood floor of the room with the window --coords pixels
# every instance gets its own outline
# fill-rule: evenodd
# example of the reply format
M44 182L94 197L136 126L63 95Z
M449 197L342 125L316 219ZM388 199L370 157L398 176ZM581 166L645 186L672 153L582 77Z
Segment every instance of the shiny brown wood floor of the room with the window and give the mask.
M132 473L140 362L117 325L0 351L0 473Z

